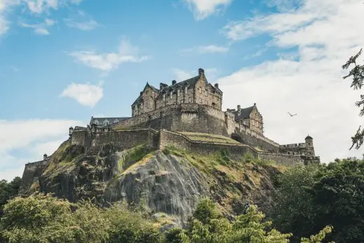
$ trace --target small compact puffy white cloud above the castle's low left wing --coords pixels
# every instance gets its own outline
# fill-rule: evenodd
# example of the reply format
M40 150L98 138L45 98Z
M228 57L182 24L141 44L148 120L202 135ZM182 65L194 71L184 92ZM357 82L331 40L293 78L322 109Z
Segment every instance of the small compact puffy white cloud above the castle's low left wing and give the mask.
M71 83L61 94L61 97L75 99L79 104L90 107L94 107L103 96L104 90L102 84L91 85L90 83Z

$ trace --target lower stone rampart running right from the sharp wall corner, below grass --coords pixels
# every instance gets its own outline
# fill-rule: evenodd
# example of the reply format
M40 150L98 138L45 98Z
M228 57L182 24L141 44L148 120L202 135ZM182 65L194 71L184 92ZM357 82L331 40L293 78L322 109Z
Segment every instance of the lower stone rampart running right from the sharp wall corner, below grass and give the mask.
M160 145L159 149L162 150L168 145L176 146L177 148L186 149L187 151L193 153L200 153L209 155L211 153L216 153L221 150L229 151L232 158L239 159L245 153L251 153L254 156L258 156L258 153L244 144L232 145L225 143L216 143L209 141L191 141L188 137L183 134L176 132L170 132L167 130L160 131Z

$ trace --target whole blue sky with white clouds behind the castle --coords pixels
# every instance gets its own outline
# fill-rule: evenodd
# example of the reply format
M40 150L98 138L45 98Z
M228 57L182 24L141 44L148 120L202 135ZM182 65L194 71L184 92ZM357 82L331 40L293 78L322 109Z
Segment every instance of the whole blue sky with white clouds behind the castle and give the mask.
M70 126L131 116L146 82L199 68L224 110L257 104L269 139L309 134L321 162L361 158L360 90L341 67L364 46L363 13L353 0L0 0L0 179Z

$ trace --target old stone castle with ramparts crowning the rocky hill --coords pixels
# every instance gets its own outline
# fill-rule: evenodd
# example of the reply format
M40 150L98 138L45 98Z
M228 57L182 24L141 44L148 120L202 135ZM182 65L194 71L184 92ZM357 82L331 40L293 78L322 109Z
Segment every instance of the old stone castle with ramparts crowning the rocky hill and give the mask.
M86 127L70 127L69 136L72 144L84 146L88 154L104 144L120 149L146 144L156 149L174 145L197 153L227 149L237 158L252 153L287 165L320 162L312 137L307 136L304 143L280 145L264 136L255 103L227 111L222 111L222 103L218 84L209 83L204 70L198 69L198 76L171 85L160 83L159 89L146 83L132 103L131 117L92 117Z

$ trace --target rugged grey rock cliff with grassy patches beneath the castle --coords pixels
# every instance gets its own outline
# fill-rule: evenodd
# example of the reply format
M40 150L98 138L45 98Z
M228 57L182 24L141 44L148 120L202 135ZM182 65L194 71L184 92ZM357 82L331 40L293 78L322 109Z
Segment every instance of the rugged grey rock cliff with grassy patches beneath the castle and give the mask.
M247 202L265 211L280 169L284 167L248 154L233 160L225 151L202 155L170 146L125 150L104 144L85 153L69 139L23 193L39 190L73 202L89 198L104 206L127 201L151 214L169 214L183 225L199 197L213 198L226 215L241 213Z

